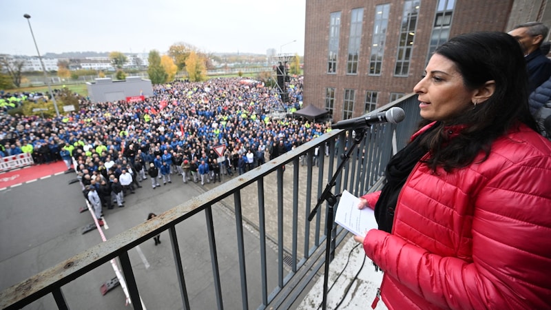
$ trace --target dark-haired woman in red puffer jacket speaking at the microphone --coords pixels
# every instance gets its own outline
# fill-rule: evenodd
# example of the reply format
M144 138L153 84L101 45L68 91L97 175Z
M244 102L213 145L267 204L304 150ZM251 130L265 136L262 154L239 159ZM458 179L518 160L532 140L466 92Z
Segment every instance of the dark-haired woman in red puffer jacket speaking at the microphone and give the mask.
M460 35L431 57L414 88L424 127L382 192L360 199L379 229L355 240L384 271L389 309L551 308L551 142L526 80L501 32Z

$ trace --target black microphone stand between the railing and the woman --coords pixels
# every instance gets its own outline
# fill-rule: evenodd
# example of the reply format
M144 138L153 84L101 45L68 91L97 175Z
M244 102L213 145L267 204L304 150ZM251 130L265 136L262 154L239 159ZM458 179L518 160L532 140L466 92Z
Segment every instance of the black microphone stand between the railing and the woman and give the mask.
M335 174L331 177L331 180L329 183L327 183L322 195L320 198L318 198L318 204L315 205L314 209L311 211L310 215L308 216L308 220L311 221L315 213L318 211L324 200L327 201L329 204L329 207L327 209L327 218L325 220L326 223L326 233L327 238L325 240L325 271L324 271L324 278L323 278L323 301L322 301L322 309L326 310L327 308L327 287L329 282L329 259L331 258L331 242L333 242L333 224L335 221L335 218L333 216L333 206L335 203L337 203L337 197L341 196L341 194L338 194L337 196L331 194L331 189L335 186L337 182L337 177L339 176L340 172L344 168L344 165L349 161L350 156L352 152L354 151L355 147L357 145L360 145L362 142L365 134L366 134L366 127L360 127L355 129L356 136L354 138L354 143L351 145L350 149L344 156L342 157L342 161L340 162L340 165L338 165L337 170L335 171Z

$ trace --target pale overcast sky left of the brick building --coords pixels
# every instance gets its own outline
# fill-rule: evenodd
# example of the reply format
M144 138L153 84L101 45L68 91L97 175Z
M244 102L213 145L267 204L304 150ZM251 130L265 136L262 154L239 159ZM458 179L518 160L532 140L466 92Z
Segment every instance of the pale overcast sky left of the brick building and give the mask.
M0 54L37 54L30 14L41 54L166 52L185 42L205 52L302 56L305 1L0 0Z

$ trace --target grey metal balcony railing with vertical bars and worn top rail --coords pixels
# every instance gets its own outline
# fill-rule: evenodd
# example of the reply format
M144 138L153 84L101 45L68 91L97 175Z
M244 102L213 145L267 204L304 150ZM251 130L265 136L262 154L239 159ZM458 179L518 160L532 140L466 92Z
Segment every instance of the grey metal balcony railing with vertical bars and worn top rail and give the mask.
M384 168L391 155L406 145L415 130L419 121L417 104L417 96L411 94L375 111L399 106L406 111L406 119L397 125L386 123L368 128L357 152L353 152L337 178L333 193L348 189L352 194L360 196L381 184ZM154 300L141 300L141 293L149 291L149 285L153 284L147 281L143 271L133 267L129 251L165 231L170 236L175 266L174 279L167 280L167 283L173 285L162 287L163 283L156 282L155 289L178 291L171 295L176 300L174 304L181 304L178 308L292 309L296 307L296 302L300 302L301 294L308 290L313 279L323 272L324 240L327 238L324 229L326 203L318 209L311 222L308 216L338 163L342 161L338 155L344 154L353 143L353 139L348 138L352 134L352 131L333 130L191 198L146 223L60 262L2 291L0 307L20 309L42 300L43 296L53 296L56 306L50 301L49 306L41 304L39 307L79 308L79 304L74 304L75 301L70 298L72 287L68 284L72 282L71 285L78 285L78 281L73 281L88 273L98 272L99 267L106 263L118 262L127 301L132 303L134 309L144 309L146 305L158 309L152 304ZM315 156L316 147L320 147L319 156ZM324 156L326 152L327 156ZM226 210L231 216L224 227L214 216L220 210ZM227 227L228 223L231 227ZM204 229L206 233L204 240L194 240L200 242L200 248L209 252L210 262L207 263L206 271L202 262L183 260L184 249L180 240L187 236L182 230L191 225L198 226L194 229ZM225 229L223 231L233 231L233 236L225 236L221 232L222 228ZM245 229L254 231L256 240L245 240ZM345 236L346 231L341 227L333 229L331 251L338 250ZM231 244L228 245L228 242ZM255 251L251 251L251 248ZM220 264L227 257L237 258L238 269L220 270ZM211 302L209 305L199 304L194 299L199 290L194 286L195 273L199 270L201 276L207 277L210 283L207 289L200 288L210 294L206 298ZM174 285L176 282L178 285ZM106 302L99 300L94 307L113 309ZM205 302L205 298L202 302ZM48 304L48 301L44 303Z

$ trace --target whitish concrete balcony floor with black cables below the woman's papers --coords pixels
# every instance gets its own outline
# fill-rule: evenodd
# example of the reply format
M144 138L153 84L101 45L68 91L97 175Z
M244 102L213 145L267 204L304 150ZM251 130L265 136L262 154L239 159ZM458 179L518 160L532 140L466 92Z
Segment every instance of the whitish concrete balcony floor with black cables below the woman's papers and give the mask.
M339 309L371 309L371 303L377 295L383 273L375 271L373 261L366 257L362 245L354 241L352 234L348 234L346 238L349 239L344 241L344 245L329 265L327 309L335 309L339 303ZM298 309L322 309L323 281L324 277L320 275ZM388 308L380 300L375 309Z

